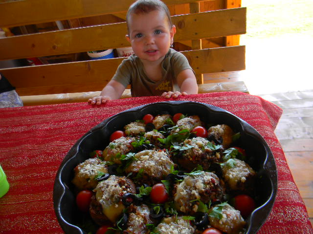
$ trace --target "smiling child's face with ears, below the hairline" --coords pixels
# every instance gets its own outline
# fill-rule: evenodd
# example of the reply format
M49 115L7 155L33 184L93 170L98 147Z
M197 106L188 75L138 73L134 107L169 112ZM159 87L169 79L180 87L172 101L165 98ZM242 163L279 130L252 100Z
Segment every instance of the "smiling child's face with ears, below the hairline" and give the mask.
M164 12L155 10L147 14L132 14L128 26L130 35L127 39L139 59L143 62L163 60L176 32L175 26L170 28Z

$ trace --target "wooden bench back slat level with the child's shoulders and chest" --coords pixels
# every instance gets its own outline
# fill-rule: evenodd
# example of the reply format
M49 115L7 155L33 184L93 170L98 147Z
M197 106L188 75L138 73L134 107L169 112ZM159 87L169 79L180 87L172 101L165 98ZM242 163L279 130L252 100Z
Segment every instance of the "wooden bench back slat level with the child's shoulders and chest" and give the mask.
M245 46L182 52L196 74L245 69ZM123 58L8 68L0 72L21 96L101 90Z

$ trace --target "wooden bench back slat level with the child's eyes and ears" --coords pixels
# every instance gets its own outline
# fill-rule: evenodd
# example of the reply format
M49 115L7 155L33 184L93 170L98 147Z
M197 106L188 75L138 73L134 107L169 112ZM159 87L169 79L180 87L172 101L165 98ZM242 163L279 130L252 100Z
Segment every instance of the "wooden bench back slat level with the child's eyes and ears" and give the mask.
M246 33L246 8L233 8L172 17L174 41ZM207 27L203 27L207 25ZM126 23L106 24L0 39L1 59L22 59L128 47Z

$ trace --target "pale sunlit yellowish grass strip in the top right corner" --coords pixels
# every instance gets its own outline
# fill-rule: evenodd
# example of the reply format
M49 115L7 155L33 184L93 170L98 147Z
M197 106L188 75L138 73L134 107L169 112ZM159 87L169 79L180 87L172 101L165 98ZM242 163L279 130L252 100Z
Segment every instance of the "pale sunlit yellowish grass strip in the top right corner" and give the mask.
M242 0L242 6L247 7L247 37L313 36L313 0Z

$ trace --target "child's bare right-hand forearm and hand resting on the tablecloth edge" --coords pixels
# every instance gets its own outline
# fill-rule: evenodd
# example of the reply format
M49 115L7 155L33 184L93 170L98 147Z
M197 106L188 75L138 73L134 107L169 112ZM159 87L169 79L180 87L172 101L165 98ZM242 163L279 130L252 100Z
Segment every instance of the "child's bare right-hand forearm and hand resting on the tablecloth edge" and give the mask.
M164 92L161 96L165 98L177 98L179 95L184 96L187 94L198 94L197 79L193 71L190 69L185 69L179 73L177 76L177 84L179 86L180 92Z

